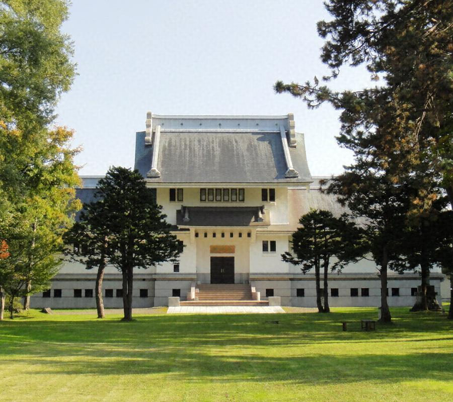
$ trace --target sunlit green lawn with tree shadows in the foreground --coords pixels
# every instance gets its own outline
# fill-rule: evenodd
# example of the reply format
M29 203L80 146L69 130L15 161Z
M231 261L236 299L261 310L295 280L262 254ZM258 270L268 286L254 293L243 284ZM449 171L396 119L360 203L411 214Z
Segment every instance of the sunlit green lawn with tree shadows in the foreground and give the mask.
M156 314L123 323L32 311L0 323L0 400L453 400L453 323L392 309L393 324L361 332L359 320L376 314Z

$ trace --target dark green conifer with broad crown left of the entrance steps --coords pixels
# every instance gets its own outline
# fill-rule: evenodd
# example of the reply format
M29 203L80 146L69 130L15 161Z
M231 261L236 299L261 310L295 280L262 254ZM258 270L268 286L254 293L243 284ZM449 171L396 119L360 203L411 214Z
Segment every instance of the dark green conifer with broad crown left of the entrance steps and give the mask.
M154 192L137 170L112 167L97 185L96 202L84 205L80 222L67 233L66 253L86 264L105 261L123 275L125 319L132 318L133 269L148 268L179 255L176 236L165 222Z

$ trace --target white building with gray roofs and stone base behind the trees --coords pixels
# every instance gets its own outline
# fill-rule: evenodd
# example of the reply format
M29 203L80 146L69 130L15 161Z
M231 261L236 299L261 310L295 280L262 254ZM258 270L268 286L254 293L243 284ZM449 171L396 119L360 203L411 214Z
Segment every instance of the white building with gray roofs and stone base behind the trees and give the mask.
M184 243L179 264L134 273L134 307L168 305L168 297L196 296L206 284L247 284L261 299L283 306L316 306L314 273L281 261L301 215L311 208L339 216L335 198L319 191L307 164L304 135L286 116L160 116L147 114L136 133L135 168L163 206ZM83 177L78 196L88 202L99 177ZM94 307L96 272L66 263L52 289L32 297L34 307ZM443 275L432 272L439 294ZM411 306L417 273L389 274L389 305ZM380 279L369 261L329 279L330 306L379 306ZM255 296L256 297L256 296ZM107 308L121 307L121 275L104 279Z

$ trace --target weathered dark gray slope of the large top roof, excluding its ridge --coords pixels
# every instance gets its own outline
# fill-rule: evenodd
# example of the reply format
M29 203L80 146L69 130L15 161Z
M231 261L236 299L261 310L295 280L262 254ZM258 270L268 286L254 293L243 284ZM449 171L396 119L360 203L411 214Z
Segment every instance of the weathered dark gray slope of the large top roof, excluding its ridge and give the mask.
M146 177L153 147L145 146L144 132L136 135L135 168ZM303 134L289 148L298 177L287 170L279 133L161 132L156 183L300 183L311 182Z

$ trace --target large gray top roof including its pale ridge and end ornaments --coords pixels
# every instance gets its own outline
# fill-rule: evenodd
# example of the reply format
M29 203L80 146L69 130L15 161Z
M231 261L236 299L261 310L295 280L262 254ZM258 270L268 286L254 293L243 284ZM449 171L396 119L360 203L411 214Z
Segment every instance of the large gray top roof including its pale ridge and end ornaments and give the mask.
M291 118L152 115L136 134L135 168L150 183L308 183Z

